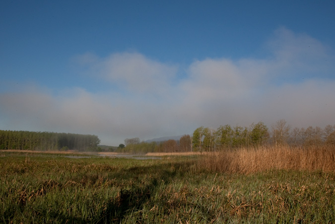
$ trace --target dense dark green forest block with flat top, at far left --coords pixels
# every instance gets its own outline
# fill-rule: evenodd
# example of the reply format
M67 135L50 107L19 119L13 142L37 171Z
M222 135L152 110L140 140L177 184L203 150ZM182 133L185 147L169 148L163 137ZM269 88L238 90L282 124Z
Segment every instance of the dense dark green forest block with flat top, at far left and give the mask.
M0 149L91 151L99 143L96 135L0 130Z

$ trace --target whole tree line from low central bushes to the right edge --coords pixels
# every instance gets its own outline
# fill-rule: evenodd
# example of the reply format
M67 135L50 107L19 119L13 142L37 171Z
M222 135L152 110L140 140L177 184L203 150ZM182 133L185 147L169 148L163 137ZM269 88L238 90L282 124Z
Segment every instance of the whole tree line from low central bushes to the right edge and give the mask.
M148 152L212 152L241 147L257 147L261 145L315 146L323 144L335 145L335 125L327 125L324 129L316 126L307 128L291 128L280 119L270 126L262 121L252 123L249 127L229 124L217 129L198 127L193 135L184 135L179 141L140 142L139 138L126 139L120 144L117 152L148 153Z

